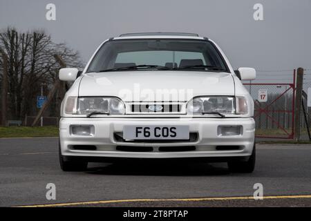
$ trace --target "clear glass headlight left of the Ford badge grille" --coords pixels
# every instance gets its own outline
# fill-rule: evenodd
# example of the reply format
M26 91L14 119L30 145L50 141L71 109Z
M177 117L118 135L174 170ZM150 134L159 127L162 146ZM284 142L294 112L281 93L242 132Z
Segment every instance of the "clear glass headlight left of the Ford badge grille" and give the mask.
M93 112L123 115L125 105L117 97L68 97L65 112L78 115L87 115Z

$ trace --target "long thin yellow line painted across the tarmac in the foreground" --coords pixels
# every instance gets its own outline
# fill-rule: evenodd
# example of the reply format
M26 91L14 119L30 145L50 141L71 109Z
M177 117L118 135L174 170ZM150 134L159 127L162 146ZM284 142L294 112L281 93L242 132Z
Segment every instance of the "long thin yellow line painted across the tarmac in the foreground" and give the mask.
M311 198L311 195L270 195L264 196L263 199L296 199L296 198ZM253 196L238 196L225 198L180 198L180 199L130 199L130 200L100 200L87 202L64 202L56 204L37 204L29 206L13 206L13 207L52 207L52 206L79 206L91 204L109 204L118 202L198 202L212 200L254 200Z

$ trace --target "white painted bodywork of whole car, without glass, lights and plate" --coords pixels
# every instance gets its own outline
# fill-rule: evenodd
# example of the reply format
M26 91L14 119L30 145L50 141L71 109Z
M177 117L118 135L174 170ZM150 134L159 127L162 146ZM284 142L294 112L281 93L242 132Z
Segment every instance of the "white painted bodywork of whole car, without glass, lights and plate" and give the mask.
M116 37L114 39L204 39L203 37L194 36L126 36ZM106 40L108 41L108 40ZM106 42L104 41L100 47ZM209 40L211 41L211 40ZM214 43L214 41L211 41ZM220 47L214 43L216 48L222 54L225 63L229 68L229 73L212 73L200 71L166 71L166 70L137 70L137 71L120 71L106 73L86 73L91 60L100 47L95 50L90 61L84 68L82 75L75 79L75 83L67 91L62 102L61 115L59 122L59 137L62 155L86 156L86 157L145 157L145 158L175 158L175 157L239 157L249 156L254 146L255 122L252 118L254 115L254 102L242 82L235 75L232 66ZM256 71L254 68L239 68L243 79L254 79ZM76 70L73 70L75 73ZM62 70L60 72L60 75ZM68 71L64 73L68 73ZM64 74L67 75L67 74ZM59 76L61 78L61 76ZM69 79L64 77L62 79ZM70 78L72 79L72 78ZM127 93L135 93L135 86L140 86L142 90L191 90L182 101L187 104L193 97L223 95L223 96L243 96L247 99L247 115L225 115L227 118L220 118L217 115L202 115L193 117L191 115L171 114L159 115L135 114L127 110L126 115L94 115L86 118L86 115L67 115L64 113L64 103L70 96L114 96L120 97L126 103L128 108L130 97ZM122 93L123 91L123 93ZM137 92L137 91L136 91ZM165 99L151 99L144 96L144 93L138 93L135 102L144 101L164 101ZM176 102L176 101L173 101ZM185 108L182 107L182 108ZM148 116L148 118L146 118ZM175 118L178 117L178 118ZM93 125L94 134L90 137L70 135L70 125ZM114 133L122 133L126 125L187 125L190 132L198 133L196 142L177 142L177 143L143 143L143 142L117 142L113 138ZM232 125L242 126L241 135L220 136L217 133L218 126ZM97 151L77 151L73 150L70 145L85 144L97 146ZM196 151L185 152L127 152L116 151L116 146L196 146ZM238 151L216 151L218 145L239 145L242 148Z

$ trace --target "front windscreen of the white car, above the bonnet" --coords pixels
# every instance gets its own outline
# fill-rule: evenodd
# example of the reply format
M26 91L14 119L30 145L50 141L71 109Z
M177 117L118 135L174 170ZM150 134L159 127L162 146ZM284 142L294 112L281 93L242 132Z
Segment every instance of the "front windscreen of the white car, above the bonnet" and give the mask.
M113 68L126 70L126 67L133 66L153 66L155 70L155 66L161 66L169 70L227 72L223 57L211 41L124 39L107 41L96 53L87 73Z

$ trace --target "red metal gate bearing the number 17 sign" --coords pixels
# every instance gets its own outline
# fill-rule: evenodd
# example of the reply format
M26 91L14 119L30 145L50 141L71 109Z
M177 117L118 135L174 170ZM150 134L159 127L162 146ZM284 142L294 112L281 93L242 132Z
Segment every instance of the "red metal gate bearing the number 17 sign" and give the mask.
M295 79L294 70L292 83L244 84L246 88L249 87L249 93L254 99L256 137L294 138ZM258 97L255 97L260 89L268 92L267 102L259 102Z

